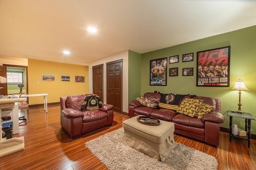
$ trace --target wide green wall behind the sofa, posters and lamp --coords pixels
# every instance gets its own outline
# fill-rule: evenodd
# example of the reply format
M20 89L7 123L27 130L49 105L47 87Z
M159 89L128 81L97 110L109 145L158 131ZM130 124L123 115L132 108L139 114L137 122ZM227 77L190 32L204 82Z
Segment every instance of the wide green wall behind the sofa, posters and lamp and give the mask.
M217 47L231 46L230 87L197 87L197 52ZM194 53L194 61L182 62L182 54ZM179 55L179 63L169 64L168 68L179 67L178 77L167 77L167 86L150 86L150 60ZM242 91L242 110L256 118L256 26L212 36L161 50L141 54L141 95L158 90L163 93L196 94L221 100L221 113L238 109L238 91L230 90L236 80L241 78L250 91ZM129 67L132 67L129 63ZM136 65L137 67L137 65ZM182 76L182 68L194 67L194 76ZM133 67L134 68L134 67ZM137 68L136 68L137 69ZM167 70L167 75L168 75ZM129 83L130 85L130 83ZM130 88L130 87L129 87ZM221 127L229 127L229 117ZM238 128L244 129L244 119L233 118ZM251 122L251 133L256 134L256 121Z

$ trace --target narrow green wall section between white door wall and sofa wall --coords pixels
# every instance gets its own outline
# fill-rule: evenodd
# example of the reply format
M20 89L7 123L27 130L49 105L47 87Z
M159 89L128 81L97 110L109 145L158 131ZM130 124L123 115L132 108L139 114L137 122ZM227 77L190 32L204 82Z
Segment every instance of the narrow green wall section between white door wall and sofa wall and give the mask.
M141 94L141 55L129 50L128 65L129 102L131 102Z

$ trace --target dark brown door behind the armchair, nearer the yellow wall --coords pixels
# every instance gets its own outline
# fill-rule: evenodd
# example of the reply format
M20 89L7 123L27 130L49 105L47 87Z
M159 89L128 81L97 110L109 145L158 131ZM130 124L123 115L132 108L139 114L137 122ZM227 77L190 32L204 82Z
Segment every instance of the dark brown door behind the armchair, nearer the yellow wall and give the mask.
M103 64L93 66L93 93L98 94L103 103Z

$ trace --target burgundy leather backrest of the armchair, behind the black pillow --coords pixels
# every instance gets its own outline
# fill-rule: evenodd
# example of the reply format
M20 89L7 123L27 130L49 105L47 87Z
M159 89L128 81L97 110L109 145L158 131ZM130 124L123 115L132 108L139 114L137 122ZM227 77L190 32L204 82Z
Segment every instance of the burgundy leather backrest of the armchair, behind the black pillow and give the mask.
M95 95L95 94L69 95L69 96L67 97L67 100L66 100L67 108L72 108L72 109L80 110L80 111L81 111L81 106L82 106L83 100L84 100L88 95Z

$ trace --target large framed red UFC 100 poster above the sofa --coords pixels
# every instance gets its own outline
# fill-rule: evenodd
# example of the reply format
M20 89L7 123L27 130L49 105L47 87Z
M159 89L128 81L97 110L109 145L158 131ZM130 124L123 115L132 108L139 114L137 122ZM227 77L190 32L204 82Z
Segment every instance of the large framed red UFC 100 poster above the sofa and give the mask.
M197 86L229 87L230 46L197 52Z

